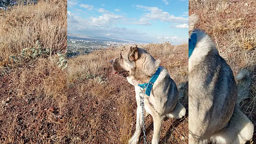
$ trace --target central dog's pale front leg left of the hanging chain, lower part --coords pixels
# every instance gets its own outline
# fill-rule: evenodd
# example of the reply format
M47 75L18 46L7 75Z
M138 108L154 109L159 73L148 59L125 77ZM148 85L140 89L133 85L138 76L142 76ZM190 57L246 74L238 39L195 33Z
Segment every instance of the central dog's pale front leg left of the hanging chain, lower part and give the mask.
M145 112L145 110L144 110ZM129 140L129 144L137 144L140 133L141 133L141 126L142 126L142 109L141 106L137 107L137 115L136 115L136 130L135 133L133 134L132 138Z

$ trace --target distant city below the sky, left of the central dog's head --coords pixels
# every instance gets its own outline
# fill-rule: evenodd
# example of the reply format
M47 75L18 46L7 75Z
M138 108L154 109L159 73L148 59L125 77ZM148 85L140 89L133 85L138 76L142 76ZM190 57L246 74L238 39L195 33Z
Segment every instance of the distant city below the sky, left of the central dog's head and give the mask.
M132 44L143 45L145 43L113 42L108 40L68 36L68 57L75 57L80 54L88 54L95 50L106 50L108 47L119 47L122 45Z

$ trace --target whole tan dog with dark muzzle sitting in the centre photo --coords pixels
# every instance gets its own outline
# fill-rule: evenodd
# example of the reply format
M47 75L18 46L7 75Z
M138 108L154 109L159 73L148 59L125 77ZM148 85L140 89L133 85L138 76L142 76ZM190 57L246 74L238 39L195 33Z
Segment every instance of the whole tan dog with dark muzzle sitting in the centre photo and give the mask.
M154 133L152 144L158 144L163 118L172 117L180 119L185 115L186 109L178 100L178 89L170 78L168 71L159 66L160 60L155 60L145 49L132 45L120 53L120 56L111 60L112 68L121 77L135 87L137 101L136 130L129 144L137 144L142 127L142 108L140 106L141 87L138 84L148 83L156 71L159 76L153 84L150 96L144 95L145 117L153 117ZM145 90L143 89L145 92Z

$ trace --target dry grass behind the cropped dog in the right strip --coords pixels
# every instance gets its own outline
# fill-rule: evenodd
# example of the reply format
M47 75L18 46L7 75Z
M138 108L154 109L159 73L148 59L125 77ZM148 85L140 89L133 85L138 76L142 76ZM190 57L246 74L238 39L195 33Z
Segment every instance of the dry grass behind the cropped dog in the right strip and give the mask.
M254 82L251 97L240 108L256 125L256 2L253 0L190 0L189 15L197 13L197 27L212 36L219 54L227 61L234 75L242 67L250 67ZM256 131L255 131L256 132ZM254 137L252 141L256 142Z

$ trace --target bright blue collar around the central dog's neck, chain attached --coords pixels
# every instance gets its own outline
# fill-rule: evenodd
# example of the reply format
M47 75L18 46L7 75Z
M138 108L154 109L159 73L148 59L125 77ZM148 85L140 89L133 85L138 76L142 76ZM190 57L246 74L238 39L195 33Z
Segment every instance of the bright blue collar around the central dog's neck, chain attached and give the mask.
M138 84L138 86L140 86L141 88L146 88L146 92L145 92L146 95L150 96L153 84L157 80L159 74L160 74L160 67L158 67L157 71L155 71L155 73L152 75L148 83Z

